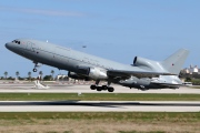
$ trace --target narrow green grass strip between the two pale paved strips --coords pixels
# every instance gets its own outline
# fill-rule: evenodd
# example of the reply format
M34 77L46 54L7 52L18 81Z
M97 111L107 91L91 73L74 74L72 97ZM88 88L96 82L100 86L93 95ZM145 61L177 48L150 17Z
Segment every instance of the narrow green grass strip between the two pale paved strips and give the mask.
M0 93L0 101L200 101L200 94L138 93Z

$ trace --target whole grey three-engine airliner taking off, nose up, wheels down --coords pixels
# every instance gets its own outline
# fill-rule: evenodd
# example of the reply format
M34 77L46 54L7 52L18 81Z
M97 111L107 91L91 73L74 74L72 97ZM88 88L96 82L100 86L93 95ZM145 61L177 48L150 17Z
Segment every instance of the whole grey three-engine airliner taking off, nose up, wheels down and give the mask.
M163 61L136 57L132 64L122 64L32 39L16 39L6 43L6 48L33 61L33 72L37 72L38 63L47 64L67 70L72 79L94 80L91 90L109 92L114 91L111 83L140 90L177 89L182 85L178 74L189 54L188 50L180 49ZM100 86L100 81L108 83Z

